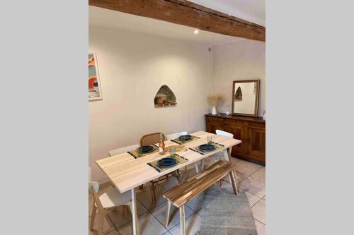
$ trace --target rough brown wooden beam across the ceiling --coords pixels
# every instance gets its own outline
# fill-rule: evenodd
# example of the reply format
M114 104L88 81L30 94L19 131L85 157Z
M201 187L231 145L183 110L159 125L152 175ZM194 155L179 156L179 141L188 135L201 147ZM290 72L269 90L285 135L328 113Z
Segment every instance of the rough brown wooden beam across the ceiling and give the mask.
M265 27L185 0L89 0L89 5L265 42Z

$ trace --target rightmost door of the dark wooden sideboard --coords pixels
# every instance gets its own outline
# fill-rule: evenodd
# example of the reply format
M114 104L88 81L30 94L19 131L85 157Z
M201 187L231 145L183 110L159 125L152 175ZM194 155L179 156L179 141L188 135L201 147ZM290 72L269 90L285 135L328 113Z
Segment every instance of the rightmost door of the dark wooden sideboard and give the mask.
M249 155L265 164L265 128L249 128Z

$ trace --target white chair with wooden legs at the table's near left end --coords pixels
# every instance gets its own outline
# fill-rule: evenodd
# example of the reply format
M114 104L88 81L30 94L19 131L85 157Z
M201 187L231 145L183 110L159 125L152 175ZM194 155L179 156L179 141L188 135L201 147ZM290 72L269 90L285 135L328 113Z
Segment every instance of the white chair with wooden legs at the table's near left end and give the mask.
M93 196L92 215L90 220L90 230L93 230L95 222L96 210L98 209L98 235L103 234L103 220L110 210L115 209L120 205L129 206L131 210L132 198L130 191L120 193L116 188L111 188L110 191L98 196L98 182L91 181L91 168L89 167L89 191Z

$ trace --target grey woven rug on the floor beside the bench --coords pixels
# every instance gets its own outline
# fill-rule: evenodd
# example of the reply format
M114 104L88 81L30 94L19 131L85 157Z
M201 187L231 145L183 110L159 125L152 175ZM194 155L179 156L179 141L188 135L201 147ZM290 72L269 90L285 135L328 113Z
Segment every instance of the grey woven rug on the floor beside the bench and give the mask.
M198 235L257 235L256 226L243 191L210 187L204 192L202 226Z

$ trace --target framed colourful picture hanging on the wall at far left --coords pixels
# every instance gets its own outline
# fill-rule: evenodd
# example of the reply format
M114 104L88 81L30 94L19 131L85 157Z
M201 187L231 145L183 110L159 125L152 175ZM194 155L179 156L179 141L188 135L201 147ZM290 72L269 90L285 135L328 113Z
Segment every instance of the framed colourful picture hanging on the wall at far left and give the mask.
M101 100L101 83L98 77L96 54L89 54L89 100Z

